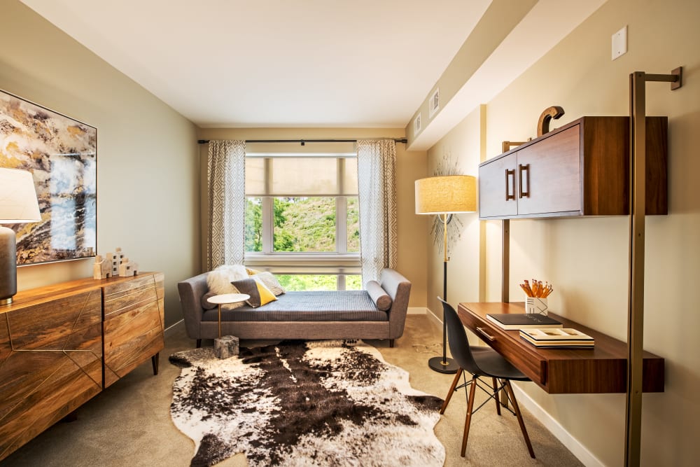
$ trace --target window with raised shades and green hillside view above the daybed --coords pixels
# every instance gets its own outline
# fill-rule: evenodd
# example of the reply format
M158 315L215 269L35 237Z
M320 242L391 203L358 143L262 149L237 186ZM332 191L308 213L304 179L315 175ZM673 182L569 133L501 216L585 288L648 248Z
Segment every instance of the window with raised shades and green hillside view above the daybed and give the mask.
M289 290L344 290L361 287L359 253L354 153L246 154L246 264Z

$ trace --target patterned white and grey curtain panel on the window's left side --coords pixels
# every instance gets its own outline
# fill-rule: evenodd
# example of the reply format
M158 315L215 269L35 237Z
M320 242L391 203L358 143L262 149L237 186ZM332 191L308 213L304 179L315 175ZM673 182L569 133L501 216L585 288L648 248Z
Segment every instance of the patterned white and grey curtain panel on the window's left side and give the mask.
M246 141L209 141L207 270L243 264L246 223Z

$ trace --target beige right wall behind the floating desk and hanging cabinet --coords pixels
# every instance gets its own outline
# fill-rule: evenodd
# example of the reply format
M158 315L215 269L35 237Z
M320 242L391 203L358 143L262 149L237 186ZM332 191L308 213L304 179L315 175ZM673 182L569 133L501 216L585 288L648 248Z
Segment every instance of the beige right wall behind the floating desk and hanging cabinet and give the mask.
M540 112L548 106L563 106L566 111L552 127L586 115L627 115L632 71L667 74L684 67L682 89L671 92L668 83L646 87L647 114L668 116L670 200L670 214L647 218L646 224L645 349L666 358L666 391L643 398L642 463L647 466L696 463L700 314L692 292L700 277L700 198L695 181L700 159L693 151L700 128L697 18L697 1L608 0L486 105L485 151L491 158L501 152L501 141L535 137ZM612 62L610 36L624 25L629 25L629 52ZM472 118L467 116L428 151L431 164L442 147L460 141L465 155L453 152L460 156L465 173L476 172L477 160L467 155L475 144L466 141L475 131L469 123ZM485 282L485 298L498 301L500 222L482 224L486 264L451 272L451 278L474 277L481 267L478 280ZM510 225L513 300L520 296L517 284L522 279L546 279L554 283L551 299L556 312L626 340L626 217L512 221ZM455 249L450 261L454 270L456 264L474 260L477 238L470 236L463 242L474 244ZM434 283L429 283L429 295ZM471 290L463 296L476 295ZM458 292L451 298L461 300ZM429 303L432 308L433 302ZM622 464L624 395L549 396L534 384L520 387L545 411L542 420L555 432L561 430L587 463Z

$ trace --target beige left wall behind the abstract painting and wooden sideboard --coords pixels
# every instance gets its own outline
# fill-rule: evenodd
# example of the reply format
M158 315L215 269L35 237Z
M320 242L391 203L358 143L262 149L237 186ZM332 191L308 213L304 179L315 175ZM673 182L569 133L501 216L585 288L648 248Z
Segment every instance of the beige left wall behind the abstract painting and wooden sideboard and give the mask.
M16 0L3 0L0 88L97 127L97 250L120 246L165 272L165 321L181 319L176 281L200 268L195 125ZM92 276L92 260L18 269L24 290Z

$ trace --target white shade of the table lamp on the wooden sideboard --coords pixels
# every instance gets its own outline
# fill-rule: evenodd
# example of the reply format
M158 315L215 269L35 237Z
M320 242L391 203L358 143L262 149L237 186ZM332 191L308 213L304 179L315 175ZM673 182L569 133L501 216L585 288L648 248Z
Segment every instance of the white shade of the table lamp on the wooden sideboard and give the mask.
M41 221L31 172L0 169L0 223Z

